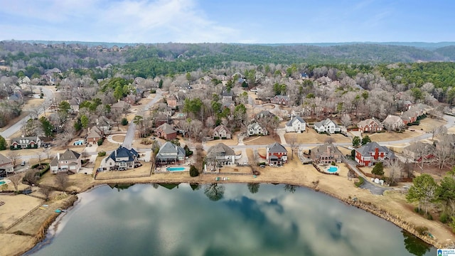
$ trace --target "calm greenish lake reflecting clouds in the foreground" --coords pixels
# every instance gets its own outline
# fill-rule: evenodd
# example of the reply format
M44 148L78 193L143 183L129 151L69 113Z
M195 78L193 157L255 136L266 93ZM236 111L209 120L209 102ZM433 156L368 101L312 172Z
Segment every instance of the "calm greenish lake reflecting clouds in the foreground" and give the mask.
M102 186L64 214L26 255L436 255L375 215L284 185Z

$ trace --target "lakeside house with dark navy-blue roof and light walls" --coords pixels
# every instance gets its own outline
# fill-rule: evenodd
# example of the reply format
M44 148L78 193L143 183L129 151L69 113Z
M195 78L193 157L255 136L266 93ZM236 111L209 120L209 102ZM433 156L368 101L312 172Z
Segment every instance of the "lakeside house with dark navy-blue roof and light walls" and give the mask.
M105 158L105 166L109 170L125 171L136 167L137 157L139 154L134 149L127 149L124 146L119 146L118 149Z

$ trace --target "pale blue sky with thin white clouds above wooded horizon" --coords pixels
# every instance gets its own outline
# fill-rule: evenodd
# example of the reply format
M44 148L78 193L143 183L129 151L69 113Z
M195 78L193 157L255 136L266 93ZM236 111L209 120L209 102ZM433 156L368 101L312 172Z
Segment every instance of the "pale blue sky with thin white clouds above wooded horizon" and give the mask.
M0 40L455 41L455 1L0 0Z

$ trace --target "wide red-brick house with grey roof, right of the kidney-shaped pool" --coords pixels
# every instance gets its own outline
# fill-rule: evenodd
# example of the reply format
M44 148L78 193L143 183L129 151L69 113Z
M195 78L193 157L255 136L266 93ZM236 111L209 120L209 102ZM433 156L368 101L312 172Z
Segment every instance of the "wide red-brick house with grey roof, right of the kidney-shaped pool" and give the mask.
M355 149L355 161L360 166L372 166L386 159L396 159L396 156L387 146L380 146L377 142L370 142Z

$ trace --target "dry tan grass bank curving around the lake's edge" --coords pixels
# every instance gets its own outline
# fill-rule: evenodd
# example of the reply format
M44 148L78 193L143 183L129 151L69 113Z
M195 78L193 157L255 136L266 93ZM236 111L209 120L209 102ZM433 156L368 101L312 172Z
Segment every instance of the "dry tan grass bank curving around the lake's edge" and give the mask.
M276 169L279 171L283 171L283 169ZM275 171L275 170L272 170ZM291 170L294 171L294 170ZM389 210L385 209L381 205L381 203L374 202L374 198L381 198L383 199L384 196L375 196L370 193L370 191L367 191L363 188L356 188L353 185L353 181L343 181L344 178L342 176L333 176L333 175L328 175L328 174L321 174L317 171L314 171L314 173L309 173L309 172L300 172L297 171L298 174L294 174L293 176L286 176L284 175L282 178L277 178L277 177L271 177L270 175L266 174L261 174L260 176L257 176L257 178L253 178L252 176L230 176L229 174L218 174L220 176L230 176L230 181L221 181L221 182L216 182L214 181L215 175L212 174L200 174L200 176L197 177L191 177L189 174L152 174L151 176L147 177L141 177L141 178L116 178L109 180L109 182L106 182L105 180L103 181L97 181L97 180L92 180L90 183L85 183L84 186L81 186L80 188L75 191L76 193L74 195L69 195L68 198L73 198L73 200L70 203L65 204L63 206L63 203L68 202L68 198L55 201L52 203L58 204L62 209L68 209L71 210L75 206L75 203L77 203L77 195L79 193L84 193L87 191L91 191L94 188L100 187L100 186L106 186L108 184L113 184L113 183L129 183L129 184L149 184L149 183L199 183L199 184L205 184L205 183L282 183L282 184L289 184L289 185L294 185L294 186L301 186L305 188L309 188L313 191L316 192L321 192L326 194L327 196L331 196L332 198L336 198L337 200L346 203L350 206L360 208L362 210L367 211L368 213L372 213L379 218L382 218L384 220L389 221L390 223L395 224L397 227L402 228L403 230L407 230L407 232L412 233L415 235L417 238L423 240L424 242L427 242L429 245L432 245L436 248L444 248L444 247L449 247L453 246L454 243L452 241L455 240L455 235L453 233L449 234L449 237L451 239L450 242L444 242L444 240L438 240L438 237L435 238L430 238L428 235L420 235L416 228L417 228L417 223L416 221L410 222L409 220L405 220L406 216L402 215L397 215L395 213L390 212ZM304 175L303 177L301 175ZM311 175L310 178L307 178L308 176ZM316 179L314 179L316 178ZM346 182L350 183L351 188L346 188L345 190L348 192L345 192L344 195L340 192L340 188L333 188L333 182L340 183L340 186L344 186L346 188ZM353 193L355 192L355 193ZM353 193L353 194L352 194ZM352 196L351 196L352 194ZM348 195L348 196L346 196ZM353 200L353 196L357 197L357 200ZM386 198L387 199L387 198ZM385 202L385 203L388 203ZM410 205L410 204L408 204ZM400 209L399 209L400 210ZM399 211L400 213L400 211ZM404 212L405 214L407 212ZM417 213L415 213L417 214ZM29 250L32 250L33 247L36 247L39 242L42 242L43 239L45 239L45 235L48 233L48 229L55 223L55 220L57 220L59 214L55 213L51 216L51 218L48 218L45 222L41 223L41 229L38 231L36 234L30 234L29 237L31 240L30 245L26 247L20 247L17 248L16 253L14 255L23 255L23 253L28 252ZM417 216L417 215L415 215ZM414 216L414 217L415 217ZM419 215L419 218L417 218L418 223L423 223L426 221L422 216ZM437 220L431 220L433 223L437 222ZM433 233L434 230L431 230L431 233ZM1 247L0 247L1 248Z

